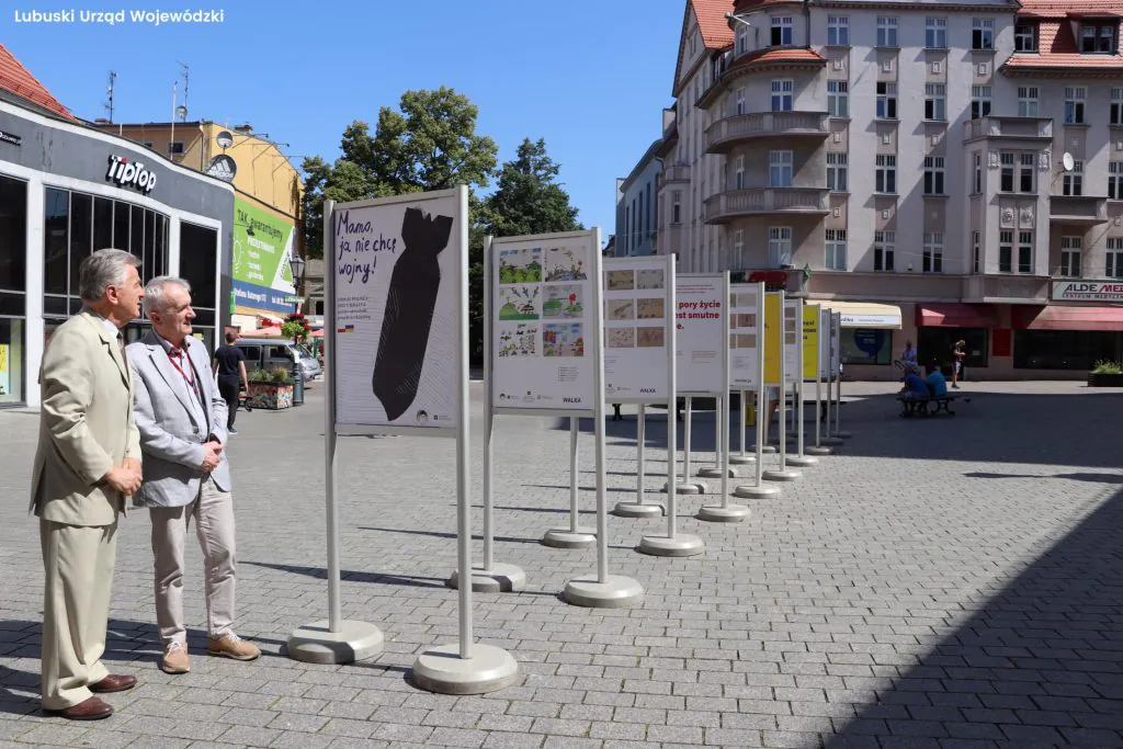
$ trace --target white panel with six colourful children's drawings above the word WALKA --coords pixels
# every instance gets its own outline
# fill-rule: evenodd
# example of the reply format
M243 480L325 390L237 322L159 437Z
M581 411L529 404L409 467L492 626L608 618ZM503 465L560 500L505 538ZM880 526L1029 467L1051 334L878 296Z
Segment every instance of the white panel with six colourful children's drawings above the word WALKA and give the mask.
M593 231L492 239L485 313L496 410L596 408L600 259Z

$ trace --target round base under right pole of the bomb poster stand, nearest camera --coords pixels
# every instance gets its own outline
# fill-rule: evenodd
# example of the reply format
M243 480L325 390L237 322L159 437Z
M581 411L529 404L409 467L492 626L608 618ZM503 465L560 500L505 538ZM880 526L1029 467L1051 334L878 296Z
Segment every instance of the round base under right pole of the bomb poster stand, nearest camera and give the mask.
M472 645L472 657L460 658L460 646L429 648L413 661L413 684L438 694L485 694L519 681L519 664L510 652L491 645Z

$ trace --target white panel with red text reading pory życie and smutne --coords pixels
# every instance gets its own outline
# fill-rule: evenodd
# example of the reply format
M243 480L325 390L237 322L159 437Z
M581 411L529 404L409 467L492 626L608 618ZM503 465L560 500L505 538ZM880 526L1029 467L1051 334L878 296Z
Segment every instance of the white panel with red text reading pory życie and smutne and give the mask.
M675 278L678 393L722 394L729 345L729 275L691 273Z

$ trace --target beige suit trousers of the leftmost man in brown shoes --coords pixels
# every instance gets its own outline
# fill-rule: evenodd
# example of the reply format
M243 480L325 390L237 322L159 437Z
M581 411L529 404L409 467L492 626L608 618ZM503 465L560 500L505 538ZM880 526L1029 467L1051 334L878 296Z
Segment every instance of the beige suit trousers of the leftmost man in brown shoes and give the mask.
M109 675L101 663L117 560L117 523L39 521L43 547L43 707L65 710L93 696Z

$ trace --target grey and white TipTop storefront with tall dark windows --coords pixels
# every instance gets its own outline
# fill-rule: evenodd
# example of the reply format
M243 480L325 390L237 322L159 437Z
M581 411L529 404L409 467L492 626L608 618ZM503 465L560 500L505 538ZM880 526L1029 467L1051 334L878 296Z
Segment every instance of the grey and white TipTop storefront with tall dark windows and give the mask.
M229 323L234 189L133 141L0 101L0 408L37 405L52 332L82 307L77 274L97 249L141 259L141 277L192 286L208 347ZM146 322L135 321L136 340Z

